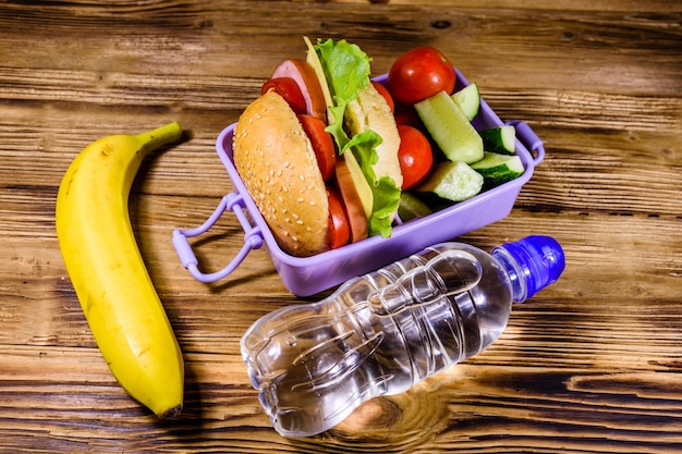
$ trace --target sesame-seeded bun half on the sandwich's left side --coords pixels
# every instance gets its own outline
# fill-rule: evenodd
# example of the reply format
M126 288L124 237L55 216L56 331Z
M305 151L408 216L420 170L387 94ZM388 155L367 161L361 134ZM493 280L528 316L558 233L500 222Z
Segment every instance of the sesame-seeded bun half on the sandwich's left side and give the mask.
M315 151L296 114L268 91L234 130L234 165L279 246L293 256L329 249L329 204Z

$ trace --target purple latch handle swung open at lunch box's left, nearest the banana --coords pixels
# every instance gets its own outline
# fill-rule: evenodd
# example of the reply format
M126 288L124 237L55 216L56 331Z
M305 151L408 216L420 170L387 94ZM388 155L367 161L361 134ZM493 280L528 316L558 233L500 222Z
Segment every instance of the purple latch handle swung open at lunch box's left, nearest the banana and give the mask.
M230 193L222 197L214 213L202 225L195 229L175 229L173 231L173 246L175 247L178 257L180 257L182 266L185 267L197 281L205 283L215 282L229 275L244 261L252 249L258 249L263 246L263 232L260 228L251 224L244 213L244 198L240 194ZM240 224L242 224L242 229L244 230L244 246L242 246L239 254L223 269L212 273L204 273L199 270L199 261L187 238L207 232L216 224L226 210L234 212Z

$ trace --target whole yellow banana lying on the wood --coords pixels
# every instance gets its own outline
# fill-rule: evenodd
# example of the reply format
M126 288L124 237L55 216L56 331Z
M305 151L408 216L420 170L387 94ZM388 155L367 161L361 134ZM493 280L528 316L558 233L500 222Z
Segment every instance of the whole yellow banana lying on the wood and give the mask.
M127 199L143 158L178 140L176 122L87 146L59 187L56 224L64 265L113 376L163 419L180 415L184 363L131 226Z

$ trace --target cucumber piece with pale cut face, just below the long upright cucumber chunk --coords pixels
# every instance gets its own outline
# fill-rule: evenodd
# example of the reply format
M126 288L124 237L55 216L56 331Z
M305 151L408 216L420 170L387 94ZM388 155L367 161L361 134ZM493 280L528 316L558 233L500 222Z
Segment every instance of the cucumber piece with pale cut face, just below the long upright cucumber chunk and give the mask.
M474 197L483 187L483 176L462 161L441 162L434 165L426 181L416 192L427 197L436 195L451 201Z

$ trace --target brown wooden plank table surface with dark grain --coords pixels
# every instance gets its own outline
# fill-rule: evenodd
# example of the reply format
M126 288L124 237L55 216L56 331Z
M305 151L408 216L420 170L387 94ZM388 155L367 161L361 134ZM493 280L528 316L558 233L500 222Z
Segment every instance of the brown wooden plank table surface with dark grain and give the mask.
M1 452L682 451L680 2L20 3L0 3ZM488 351L291 440L263 413L239 341L301 299L264 250L205 285L170 240L231 191L215 139L277 63L303 57L303 35L361 45L377 74L437 47L502 119L526 121L544 162L509 217L460 240L552 235L568 267ZM53 212L87 144L172 120L188 138L145 162L131 197L186 364L183 415L160 422L102 360ZM234 218L216 229L202 249L212 270L243 241Z

